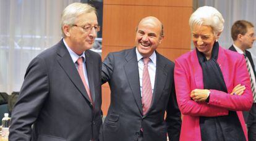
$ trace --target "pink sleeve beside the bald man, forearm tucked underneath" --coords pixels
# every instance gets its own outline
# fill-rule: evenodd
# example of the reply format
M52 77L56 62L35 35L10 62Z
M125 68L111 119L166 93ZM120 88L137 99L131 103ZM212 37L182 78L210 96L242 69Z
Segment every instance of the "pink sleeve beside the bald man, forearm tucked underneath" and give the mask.
M174 82L176 86L177 103L183 115L190 116L224 116L228 115L226 108L208 105L207 103L197 103L190 99L190 76L182 62L176 60L174 68ZM210 97L211 99L211 97Z

